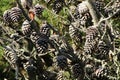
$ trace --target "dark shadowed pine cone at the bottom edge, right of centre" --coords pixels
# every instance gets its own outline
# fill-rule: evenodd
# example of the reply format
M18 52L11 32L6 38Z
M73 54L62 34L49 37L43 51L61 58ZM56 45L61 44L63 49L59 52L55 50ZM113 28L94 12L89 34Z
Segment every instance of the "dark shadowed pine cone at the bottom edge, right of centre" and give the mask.
M76 63L72 66L73 76L79 80L83 80L84 78L84 69L79 63Z

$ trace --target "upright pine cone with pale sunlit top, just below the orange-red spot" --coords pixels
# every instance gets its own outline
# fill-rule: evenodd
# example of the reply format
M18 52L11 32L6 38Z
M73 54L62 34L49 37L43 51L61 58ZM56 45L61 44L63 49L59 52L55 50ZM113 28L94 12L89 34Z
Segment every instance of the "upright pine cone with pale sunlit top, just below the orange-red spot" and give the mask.
M22 32L24 35L30 35L31 34L31 27L30 27L30 23L28 20L25 20L22 24Z

